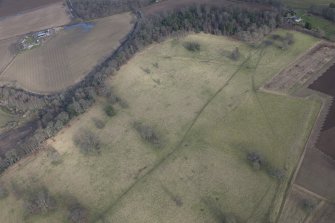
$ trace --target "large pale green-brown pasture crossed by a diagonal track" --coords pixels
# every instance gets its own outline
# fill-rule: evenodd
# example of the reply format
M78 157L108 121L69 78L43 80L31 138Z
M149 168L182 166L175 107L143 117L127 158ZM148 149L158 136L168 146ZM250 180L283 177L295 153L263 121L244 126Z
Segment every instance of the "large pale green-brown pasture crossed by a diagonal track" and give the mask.
M9 196L0 200L0 221L22 222L22 197L41 185L58 208L25 222L68 222L71 196L89 210L89 222L274 221L320 106L258 90L317 41L293 34L287 50L197 34L137 54L109 81L122 100L114 117L104 114L107 102L100 99L49 141L60 164L41 151L1 176ZM200 51L186 50L189 42ZM236 61L229 57L235 47ZM159 145L144 141L135 122L154 129ZM99 136L100 154L83 155L73 144L83 129ZM253 168L249 152L283 170L284 180Z

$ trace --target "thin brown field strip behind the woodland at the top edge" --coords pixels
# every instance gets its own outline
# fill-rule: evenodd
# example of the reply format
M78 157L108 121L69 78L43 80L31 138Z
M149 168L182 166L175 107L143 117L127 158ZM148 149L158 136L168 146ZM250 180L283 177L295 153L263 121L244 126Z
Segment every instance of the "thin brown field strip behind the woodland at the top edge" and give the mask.
M172 11L174 9L184 7L187 5L192 4L211 4L213 6L226 6L226 7L246 7L248 9L257 9L257 10L264 10L264 9L271 9L267 6L264 6L262 4L256 4L256 3L246 3L246 2L239 2L239 1L233 1L233 0L164 0L160 3L152 4L150 6L147 6L143 9L143 12L145 15L154 15L166 11Z

